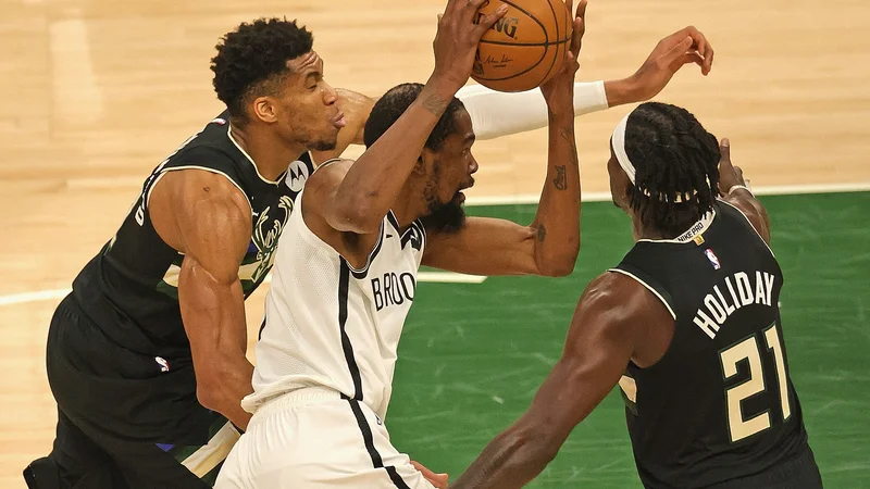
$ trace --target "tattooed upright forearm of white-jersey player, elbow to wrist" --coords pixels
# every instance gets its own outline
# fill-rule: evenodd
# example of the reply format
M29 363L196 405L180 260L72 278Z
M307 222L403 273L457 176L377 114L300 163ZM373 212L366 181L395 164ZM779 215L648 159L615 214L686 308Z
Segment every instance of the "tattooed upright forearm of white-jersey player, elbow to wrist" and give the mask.
M550 115L549 161L533 227L542 275L568 275L580 251L580 164L570 114Z

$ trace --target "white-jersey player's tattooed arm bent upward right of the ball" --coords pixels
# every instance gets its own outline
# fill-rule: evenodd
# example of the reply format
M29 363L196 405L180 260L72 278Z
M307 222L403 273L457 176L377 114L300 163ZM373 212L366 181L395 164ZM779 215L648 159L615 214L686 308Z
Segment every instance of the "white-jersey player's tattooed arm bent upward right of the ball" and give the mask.
M549 114L549 150L534 222L520 226L502 220L469 218L459 231L431 233L424 264L480 275L562 276L574 269L580 250L580 166L573 86L585 9L582 0L562 71L540 87Z

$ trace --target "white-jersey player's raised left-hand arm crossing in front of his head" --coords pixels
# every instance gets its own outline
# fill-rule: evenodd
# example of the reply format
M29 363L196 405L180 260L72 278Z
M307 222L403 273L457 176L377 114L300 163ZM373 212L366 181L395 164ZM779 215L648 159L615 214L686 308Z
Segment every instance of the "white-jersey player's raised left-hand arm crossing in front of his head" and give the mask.
M483 34L507 5L480 24L474 16L485 0L450 0L438 21L435 70L420 97L398 121L347 170L340 185L324 192L304 192L303 209L316 208L335 230L371 234L398 197L426 138L459 88L468 82ZM312 176L315 179L316 173ZM313 183L313 181L312 181Z

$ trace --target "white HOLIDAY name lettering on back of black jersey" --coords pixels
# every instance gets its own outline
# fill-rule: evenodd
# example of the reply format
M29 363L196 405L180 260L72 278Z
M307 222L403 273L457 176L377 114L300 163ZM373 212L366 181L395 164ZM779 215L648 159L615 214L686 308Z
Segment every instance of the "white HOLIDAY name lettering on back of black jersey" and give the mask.
M774 281L775 277L767 272L756 272L755 283L745 272L725 277L704 298L704 308L695 314L695 325L710 338L716 338L729 316L738 309L753 304L772 306Z

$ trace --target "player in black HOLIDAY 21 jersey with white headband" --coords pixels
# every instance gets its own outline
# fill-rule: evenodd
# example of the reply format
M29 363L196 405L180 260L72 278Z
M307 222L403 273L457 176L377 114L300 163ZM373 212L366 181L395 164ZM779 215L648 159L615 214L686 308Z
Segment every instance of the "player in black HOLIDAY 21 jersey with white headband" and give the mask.
M619 384L645 487L821 488L788 375L770 225L728 140L684 109L645 103L611 150L610 189L636 244L581 297L529 411L450 487L523 486Z

